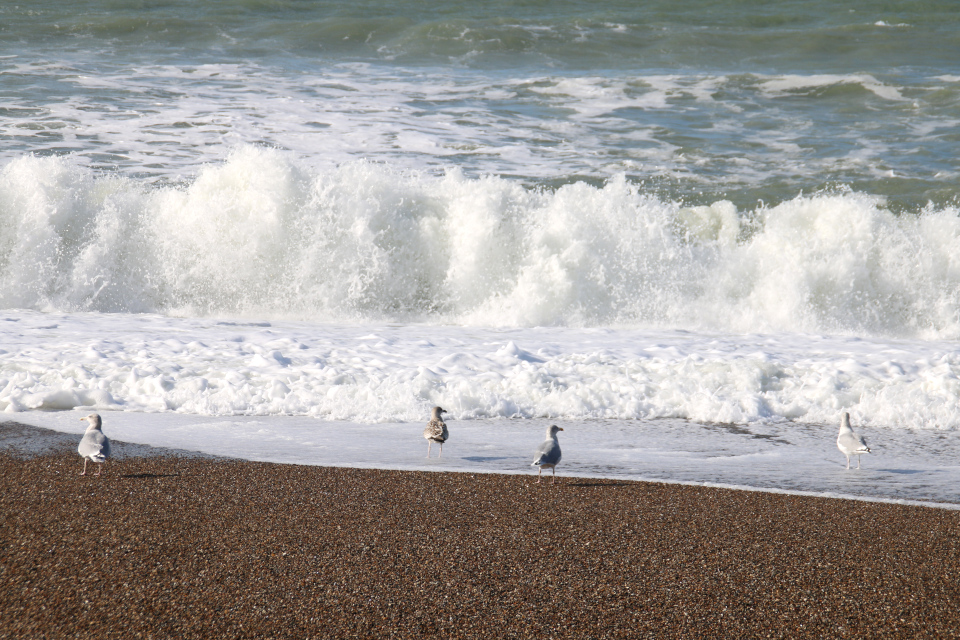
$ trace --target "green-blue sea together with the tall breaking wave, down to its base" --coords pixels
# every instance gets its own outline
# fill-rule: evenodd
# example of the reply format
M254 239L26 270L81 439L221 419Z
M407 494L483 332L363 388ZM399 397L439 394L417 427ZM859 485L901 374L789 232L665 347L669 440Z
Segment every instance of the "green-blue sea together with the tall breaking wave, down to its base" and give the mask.
M960 4L0 4L0 308L960 335Z

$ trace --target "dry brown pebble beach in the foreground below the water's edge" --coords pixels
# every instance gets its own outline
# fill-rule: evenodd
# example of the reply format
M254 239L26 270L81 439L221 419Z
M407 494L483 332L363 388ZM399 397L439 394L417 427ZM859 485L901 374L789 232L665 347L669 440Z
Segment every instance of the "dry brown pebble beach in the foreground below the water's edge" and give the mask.
M960 637L955 511L172 454L80 468L0 453L0 637Z

